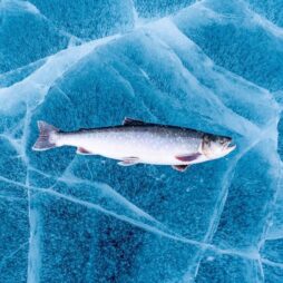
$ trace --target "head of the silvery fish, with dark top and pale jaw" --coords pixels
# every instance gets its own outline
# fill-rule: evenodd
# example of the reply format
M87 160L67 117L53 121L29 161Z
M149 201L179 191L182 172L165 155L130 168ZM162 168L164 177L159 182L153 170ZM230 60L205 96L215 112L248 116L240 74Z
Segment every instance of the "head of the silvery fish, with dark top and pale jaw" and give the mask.
M236 148L231 137L205 134L202 153L209 159L223 157Z

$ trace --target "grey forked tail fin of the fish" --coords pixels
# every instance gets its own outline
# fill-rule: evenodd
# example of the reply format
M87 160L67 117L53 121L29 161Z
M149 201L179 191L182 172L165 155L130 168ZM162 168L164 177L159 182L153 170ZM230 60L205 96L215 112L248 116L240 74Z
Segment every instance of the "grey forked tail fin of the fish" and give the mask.
M47 150L56 147L56 134L58 128L39 120L38 121L39 137L36 144L32 146L33 150Z

